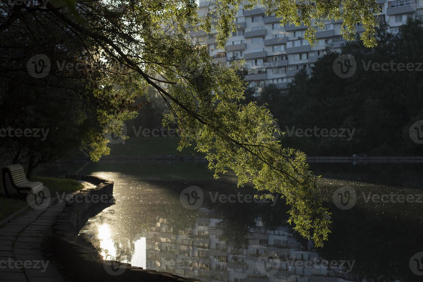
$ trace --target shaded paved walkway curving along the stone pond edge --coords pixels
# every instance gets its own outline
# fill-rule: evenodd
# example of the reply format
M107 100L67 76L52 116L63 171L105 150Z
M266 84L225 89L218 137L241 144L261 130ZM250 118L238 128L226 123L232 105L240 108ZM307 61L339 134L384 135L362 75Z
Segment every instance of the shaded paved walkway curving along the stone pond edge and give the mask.
M81 181L82 182L82 181ZM82 182L85 187L91 183ZM25 214L0 228L0 280L27 282L64 282L58 270L41 253L41 242L46 230L56 220L65 203L50 203L36 211L29 208Z

